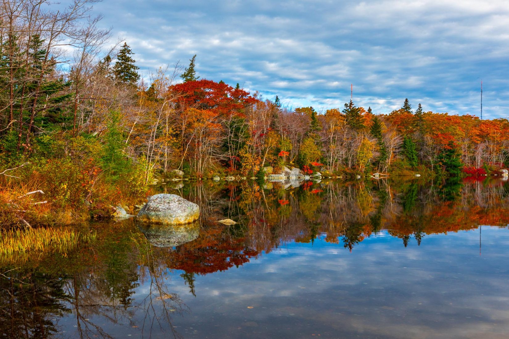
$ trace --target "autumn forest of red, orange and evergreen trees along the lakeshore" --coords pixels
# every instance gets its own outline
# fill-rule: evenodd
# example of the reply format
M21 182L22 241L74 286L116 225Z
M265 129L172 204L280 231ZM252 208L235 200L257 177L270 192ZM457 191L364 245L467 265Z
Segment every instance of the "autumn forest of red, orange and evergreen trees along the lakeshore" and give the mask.
M447 177L498 175L509 165L506 118L431 112L408 99L389 114L353 100L324 111L286 107L278 96L201 78L196 55L142 77L135 52L111 44L93 3L1 5L4 226L108 218L176 169L200 180L263 179L268 166Z

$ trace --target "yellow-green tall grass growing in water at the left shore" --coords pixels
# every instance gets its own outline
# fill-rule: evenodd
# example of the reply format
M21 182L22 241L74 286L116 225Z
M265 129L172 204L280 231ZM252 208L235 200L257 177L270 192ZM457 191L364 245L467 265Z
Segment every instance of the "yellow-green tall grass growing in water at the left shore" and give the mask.
M80 233L64 228L0 230L0 255L18 252L67 253L80 242L94 242L96 232Z

